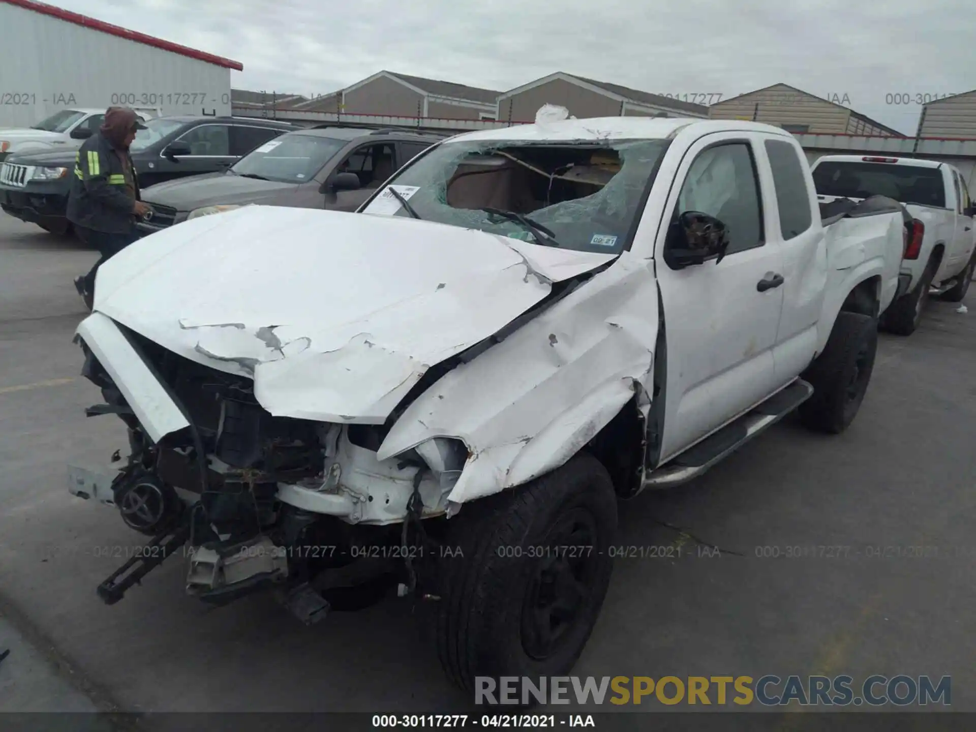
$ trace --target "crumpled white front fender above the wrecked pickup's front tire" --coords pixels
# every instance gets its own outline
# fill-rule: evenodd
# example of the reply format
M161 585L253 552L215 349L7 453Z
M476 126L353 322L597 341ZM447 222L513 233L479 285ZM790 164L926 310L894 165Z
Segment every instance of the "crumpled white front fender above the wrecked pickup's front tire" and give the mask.
M625 252L600 276L440 379L390 429L381 460L435 436L470 455L464 503L556 468L651 380L658 335L652 269ZM649 389L648 389L649 390Z

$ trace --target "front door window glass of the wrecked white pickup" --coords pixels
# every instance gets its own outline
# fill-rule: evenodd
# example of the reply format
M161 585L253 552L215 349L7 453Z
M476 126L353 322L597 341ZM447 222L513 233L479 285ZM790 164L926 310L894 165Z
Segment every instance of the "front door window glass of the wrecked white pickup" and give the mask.
M745 142L710 147L691 164L674 216L700 211L728 227L726 256L763 244L762 208L752 153Z

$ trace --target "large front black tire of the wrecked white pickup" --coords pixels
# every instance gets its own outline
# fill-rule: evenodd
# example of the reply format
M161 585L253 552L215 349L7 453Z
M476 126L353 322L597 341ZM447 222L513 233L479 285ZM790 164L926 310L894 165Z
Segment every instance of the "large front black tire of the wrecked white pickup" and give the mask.
M606 468L581 453L519 489L462 508L452 523L448 546L461 552L441 560L433 618L447 675L472 693L476 676L496 683L503 675L531 676L538 683L540 676L570 671L613 571L617 498ZM576 605L553 633L559 602L544 595L551 590L558 597L557 585L576 589L566 593ZM549 628L549 647L543 628Z

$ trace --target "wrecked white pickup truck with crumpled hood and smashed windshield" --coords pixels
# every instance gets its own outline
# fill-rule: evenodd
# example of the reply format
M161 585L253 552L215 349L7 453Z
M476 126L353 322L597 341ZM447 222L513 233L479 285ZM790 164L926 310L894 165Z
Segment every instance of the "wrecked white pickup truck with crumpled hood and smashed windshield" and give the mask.
M392 588L445 670L558 675L618 498L700 475L798 409L840 432L898 286L903 210L822 222L789 133L561 120L415 157L359 213L249 206L102 265L78 327L129 452L76 496L187 541L186 591L274 589L305 623Z

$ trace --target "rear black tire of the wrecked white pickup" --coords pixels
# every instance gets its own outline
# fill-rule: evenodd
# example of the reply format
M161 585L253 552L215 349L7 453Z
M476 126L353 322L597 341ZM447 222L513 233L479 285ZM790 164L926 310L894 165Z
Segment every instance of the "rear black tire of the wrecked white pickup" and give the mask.
M798 410L806 427L838 434L850 426L868 391L876 353L877 321L840 312L824 352L802 376L813 386L813 396Z

